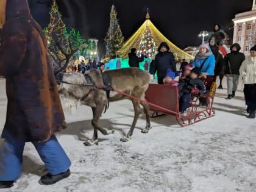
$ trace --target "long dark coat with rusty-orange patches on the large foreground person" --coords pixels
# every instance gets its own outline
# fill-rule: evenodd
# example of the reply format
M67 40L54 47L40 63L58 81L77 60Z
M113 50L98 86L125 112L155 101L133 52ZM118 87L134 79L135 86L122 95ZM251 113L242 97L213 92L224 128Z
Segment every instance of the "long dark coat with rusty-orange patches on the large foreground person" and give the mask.
M5 15L0 46L8 99L4 130L25 141L46 141L66 128L46 38L27 0L7 1Z

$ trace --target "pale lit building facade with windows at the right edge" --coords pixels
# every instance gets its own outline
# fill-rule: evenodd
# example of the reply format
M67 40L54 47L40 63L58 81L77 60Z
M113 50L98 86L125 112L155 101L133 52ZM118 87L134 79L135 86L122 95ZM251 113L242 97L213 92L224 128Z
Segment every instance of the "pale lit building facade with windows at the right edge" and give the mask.
M256 1L254 0L252 10L235 15L233 43L241 46L241 52L249 55L249 50L255 45L256 35Z

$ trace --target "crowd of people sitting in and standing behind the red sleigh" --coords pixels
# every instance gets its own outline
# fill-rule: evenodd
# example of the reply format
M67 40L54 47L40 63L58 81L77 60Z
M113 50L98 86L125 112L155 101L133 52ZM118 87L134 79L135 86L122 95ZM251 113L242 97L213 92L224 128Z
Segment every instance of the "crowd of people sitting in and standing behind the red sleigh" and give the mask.
M245 58L240 52L240 45L233 44L230 49L225 44L225 32L218 24L213 32L210 32L208 42L199 46L199 52L195 59L189 63L183 59L180 69L177 71L176 60L169 46L163 42L158 48L158 54L149 65L151 79L157 74L158 84L169 84L179 87L180 113L184 113L191 106L193 97L207 94L209 87L204 86L204 79L216 81L219 76L222 89L222 79L227 77L227 98L235 97L240 77L244 82L244 98L247 105L247 118L255 118L256 110L256 46L251 49L251 55ZM130 67L139 67L143 62L144 55L137 56L137 50L131 49L129 54ZM146 64L144 65L146 66ZM145 69L148 70L148 67ZM179 78L177 78L179 77ZM209 78L210 77L210 78ZM179 80L176 80L179 79ZM201 105L207 105L206 99L200 99Z

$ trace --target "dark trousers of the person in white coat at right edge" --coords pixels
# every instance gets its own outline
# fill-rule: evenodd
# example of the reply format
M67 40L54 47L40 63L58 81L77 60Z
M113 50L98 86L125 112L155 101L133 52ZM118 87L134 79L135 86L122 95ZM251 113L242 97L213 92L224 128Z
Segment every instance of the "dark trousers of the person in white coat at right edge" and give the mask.
M244 99L250 110L256 109L256 84L244 85Z

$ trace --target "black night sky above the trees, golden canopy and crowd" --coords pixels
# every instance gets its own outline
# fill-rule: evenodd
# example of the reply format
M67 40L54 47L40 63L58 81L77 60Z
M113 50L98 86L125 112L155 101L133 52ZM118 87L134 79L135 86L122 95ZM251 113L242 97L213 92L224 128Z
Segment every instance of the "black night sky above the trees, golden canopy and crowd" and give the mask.
M231 21L236 13L251 10L253 0L115 0L118 19L125 39L144 22L146 8L151 21L172 43L180 48L198 45L201 30L213 30L221 24L230 35ZM84 37L100 41L99 52L104 51L103 39L109 25L109 13L113 0L57 0L66 26L74 27ZM42 27L49 23L51 0L29 0L35 20Z

